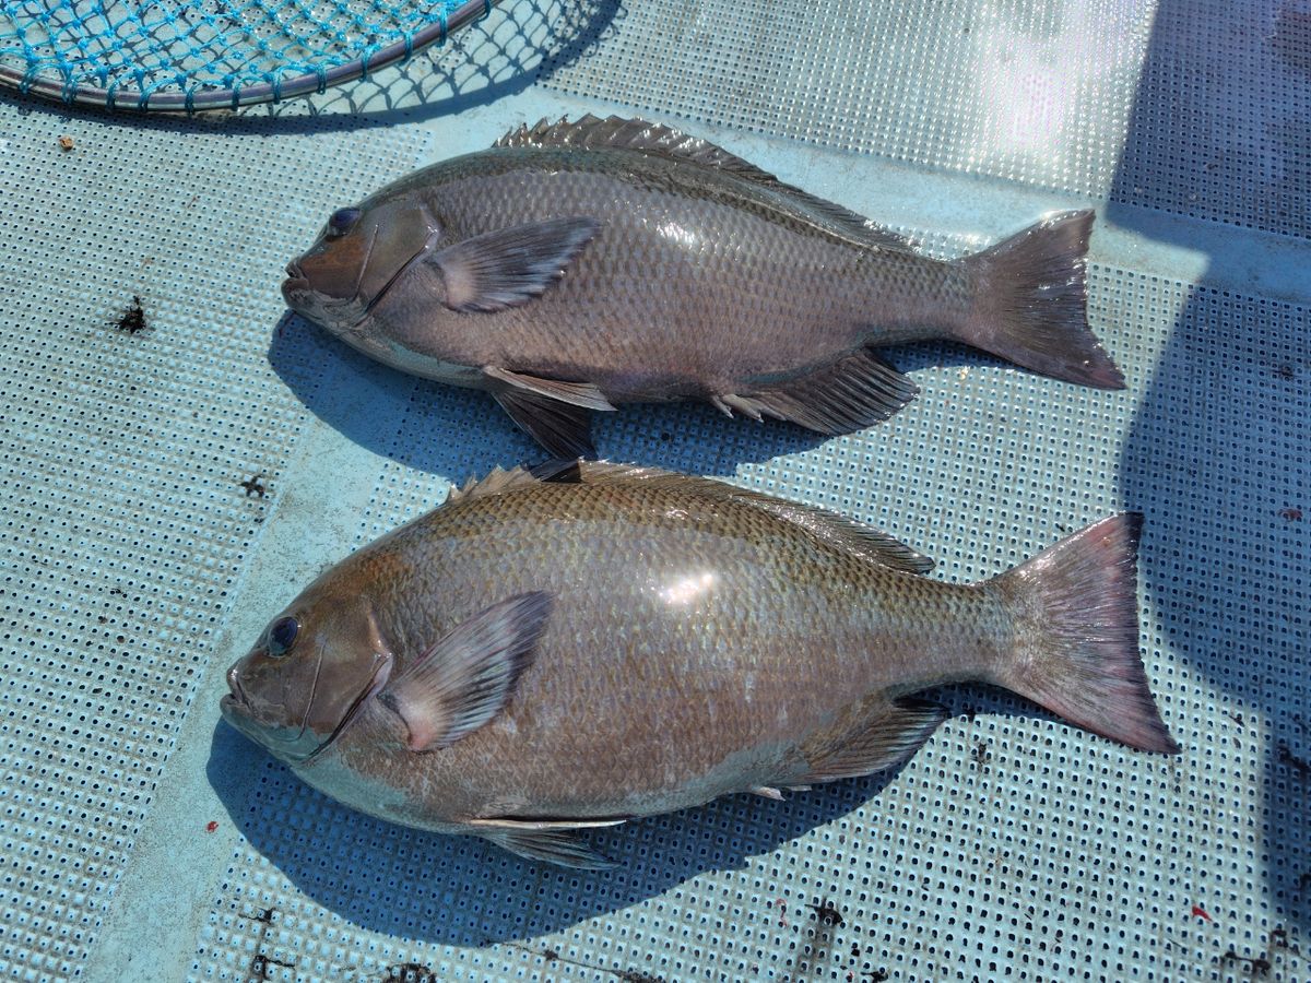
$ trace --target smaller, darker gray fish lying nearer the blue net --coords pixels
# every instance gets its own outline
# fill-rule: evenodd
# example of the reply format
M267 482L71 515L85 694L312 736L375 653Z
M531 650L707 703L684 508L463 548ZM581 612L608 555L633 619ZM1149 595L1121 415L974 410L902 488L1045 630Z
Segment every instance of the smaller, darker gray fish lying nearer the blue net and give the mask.
M341 208L287 304L414 375L485 389L548 451L590 412L705 400L844 434L916 392L885 345L949 338L1086 385L1091 211L957 262L641 121L538 123Z

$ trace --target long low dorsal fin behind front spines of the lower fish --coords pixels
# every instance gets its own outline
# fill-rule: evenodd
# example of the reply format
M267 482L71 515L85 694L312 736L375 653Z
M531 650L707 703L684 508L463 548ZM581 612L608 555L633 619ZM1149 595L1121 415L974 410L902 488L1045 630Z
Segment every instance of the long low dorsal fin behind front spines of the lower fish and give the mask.
M882 530L848 519L809 505L788 502L760 492L751 492L735 485L728 485L712 478L679 474L661 468L642 468L633 464L611 464L608 461L555 461L532 469L541 481L578 482L583 485L607 485L617 482L642 482L658 488L674 488L725 501L750 505L770 512L777 519L804 527L817 539L855 553L872 562L882 564L906 573L928 573L933 561L907 547L901 540L889 536Z

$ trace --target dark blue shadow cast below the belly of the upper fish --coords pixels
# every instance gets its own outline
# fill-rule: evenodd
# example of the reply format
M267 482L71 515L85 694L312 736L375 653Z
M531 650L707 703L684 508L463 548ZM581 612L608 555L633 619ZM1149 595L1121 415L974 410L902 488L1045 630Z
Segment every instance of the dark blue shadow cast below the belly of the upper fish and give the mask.
M383 366L291 312L273 332L269 364L329 427L409 468L463 480L548 456L486 393ZM829 439L780 421L726 419L695 402L595 413L593 438L604 459L691 474L732 474Z

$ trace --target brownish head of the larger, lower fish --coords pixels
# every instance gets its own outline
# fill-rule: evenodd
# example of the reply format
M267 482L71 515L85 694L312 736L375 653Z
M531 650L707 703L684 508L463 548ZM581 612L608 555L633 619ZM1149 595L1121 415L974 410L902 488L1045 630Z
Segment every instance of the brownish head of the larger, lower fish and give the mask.
M312 587L228 668L224 720L287 764L332 743L391 672L367 598Z

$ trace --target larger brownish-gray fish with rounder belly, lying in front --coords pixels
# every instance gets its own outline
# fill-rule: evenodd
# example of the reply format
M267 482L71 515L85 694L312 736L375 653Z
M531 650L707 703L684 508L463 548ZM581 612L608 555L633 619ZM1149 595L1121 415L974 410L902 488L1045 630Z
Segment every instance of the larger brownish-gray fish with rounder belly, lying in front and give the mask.
M228 671L224 717L375 817L528 857L737 792L868 775L1006 687L1177 752L1138 658L1139 516L929 579L848 519L649 468L493 472L324 573Z

